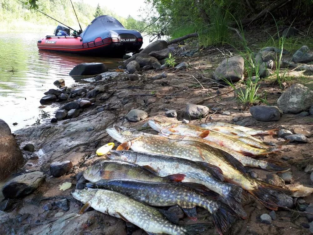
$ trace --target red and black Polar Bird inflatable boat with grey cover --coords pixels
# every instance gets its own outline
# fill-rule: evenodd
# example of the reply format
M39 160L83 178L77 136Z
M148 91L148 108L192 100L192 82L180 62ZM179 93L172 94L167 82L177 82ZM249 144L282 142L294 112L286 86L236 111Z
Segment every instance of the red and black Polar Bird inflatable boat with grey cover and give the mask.
M95 18L79 35L69 36L69 33L69 29L58 26L55 35L38 40L38 49L116 57L137 52L142 46L139 32L125 29L117 19L109 15Z

